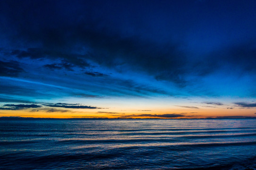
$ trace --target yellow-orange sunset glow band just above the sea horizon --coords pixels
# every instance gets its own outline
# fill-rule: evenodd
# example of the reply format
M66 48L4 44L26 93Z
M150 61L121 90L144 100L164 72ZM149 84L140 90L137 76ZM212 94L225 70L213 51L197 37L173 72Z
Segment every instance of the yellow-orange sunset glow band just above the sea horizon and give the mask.
M156 110L142 109L65 109L47 112L43 109L37 110L2 110L1 117L19 116L32 118L162 118L161 115L177 114L184 115L183 117L173 118L207 118L207 117L222 117L222 116L247 116L255 117L255 109L226 109L226 108L164 108ZM159 117L157 115L160 115Z

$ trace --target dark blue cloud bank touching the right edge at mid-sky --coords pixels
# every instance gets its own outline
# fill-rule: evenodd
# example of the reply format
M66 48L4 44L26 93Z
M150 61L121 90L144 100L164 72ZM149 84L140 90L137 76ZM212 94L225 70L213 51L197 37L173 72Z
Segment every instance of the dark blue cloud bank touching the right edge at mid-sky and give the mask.
M241 73L255 73L255 43L255 41L246 40L222 46L220 49L206 54L204 60L194 62L193 70L199 76L207 76L223 68L236 68ZM223 74L226 74L225 70Z

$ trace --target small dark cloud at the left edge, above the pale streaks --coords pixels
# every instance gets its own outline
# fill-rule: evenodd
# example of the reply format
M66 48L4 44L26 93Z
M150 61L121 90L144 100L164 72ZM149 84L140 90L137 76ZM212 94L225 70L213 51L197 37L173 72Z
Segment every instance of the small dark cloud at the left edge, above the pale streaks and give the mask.
M0 76L18 76L21 72L24 72L24 69L20 68L17 61L0 61Z

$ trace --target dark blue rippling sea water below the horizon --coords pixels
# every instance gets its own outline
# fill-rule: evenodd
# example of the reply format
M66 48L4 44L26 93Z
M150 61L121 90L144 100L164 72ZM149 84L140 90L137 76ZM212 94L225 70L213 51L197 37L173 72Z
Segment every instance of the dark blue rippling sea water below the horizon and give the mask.
M198 168L256 170L256 119L0 120L0 170Z

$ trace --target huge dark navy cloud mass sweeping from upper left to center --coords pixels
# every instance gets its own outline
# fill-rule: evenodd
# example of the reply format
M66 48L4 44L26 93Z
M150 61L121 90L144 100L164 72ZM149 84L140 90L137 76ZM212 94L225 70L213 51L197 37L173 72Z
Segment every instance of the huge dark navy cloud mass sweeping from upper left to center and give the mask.
M123 22L118 18L113 16L115 18L113 20L113 17L110 17L111 14L95 14L96 10L101 10L96 4L77 1L71 6L66 5L69 7L68 10L63 8L65 5L63 6L62 3L51 1L3 3L2 17L5 18L3 20L8 20L4 24L10 28L6 30L9 33L6 35L9 36L8 39L13 38L17 42L29 41L33 44L26 45L25 50L14 49L10 55L20 59L65 59L69 64L68 69L73 65L81 68L88 67L90 65L87 60L91 60L104 67L120 71L127 71L127 69L142 71L154 76L157 80L169 80L185 85L183 74L186 72L184 66L187 59L183 50L180 49L179 42L171 41L171 38L168 41L159 42L140 34L124 34L124 27L121 26ZM28 12L30 15L25 12L25 8L26 11L30 11ZM106 8L103 8L102 12L105 10ZM68 11L71 12L70 15L67 15ZM44 15L31 15L31 13ZM34 25L34 23L37 24ZM129 25L132 23L129 22ZM138 27L140 24L142 22L134 26ZM33 47L35 42L42 45L38 48ZM62 66L53 63L46 64L45 67L60 69ZM91 76L102 76L101 73L95 73L88 72Z

